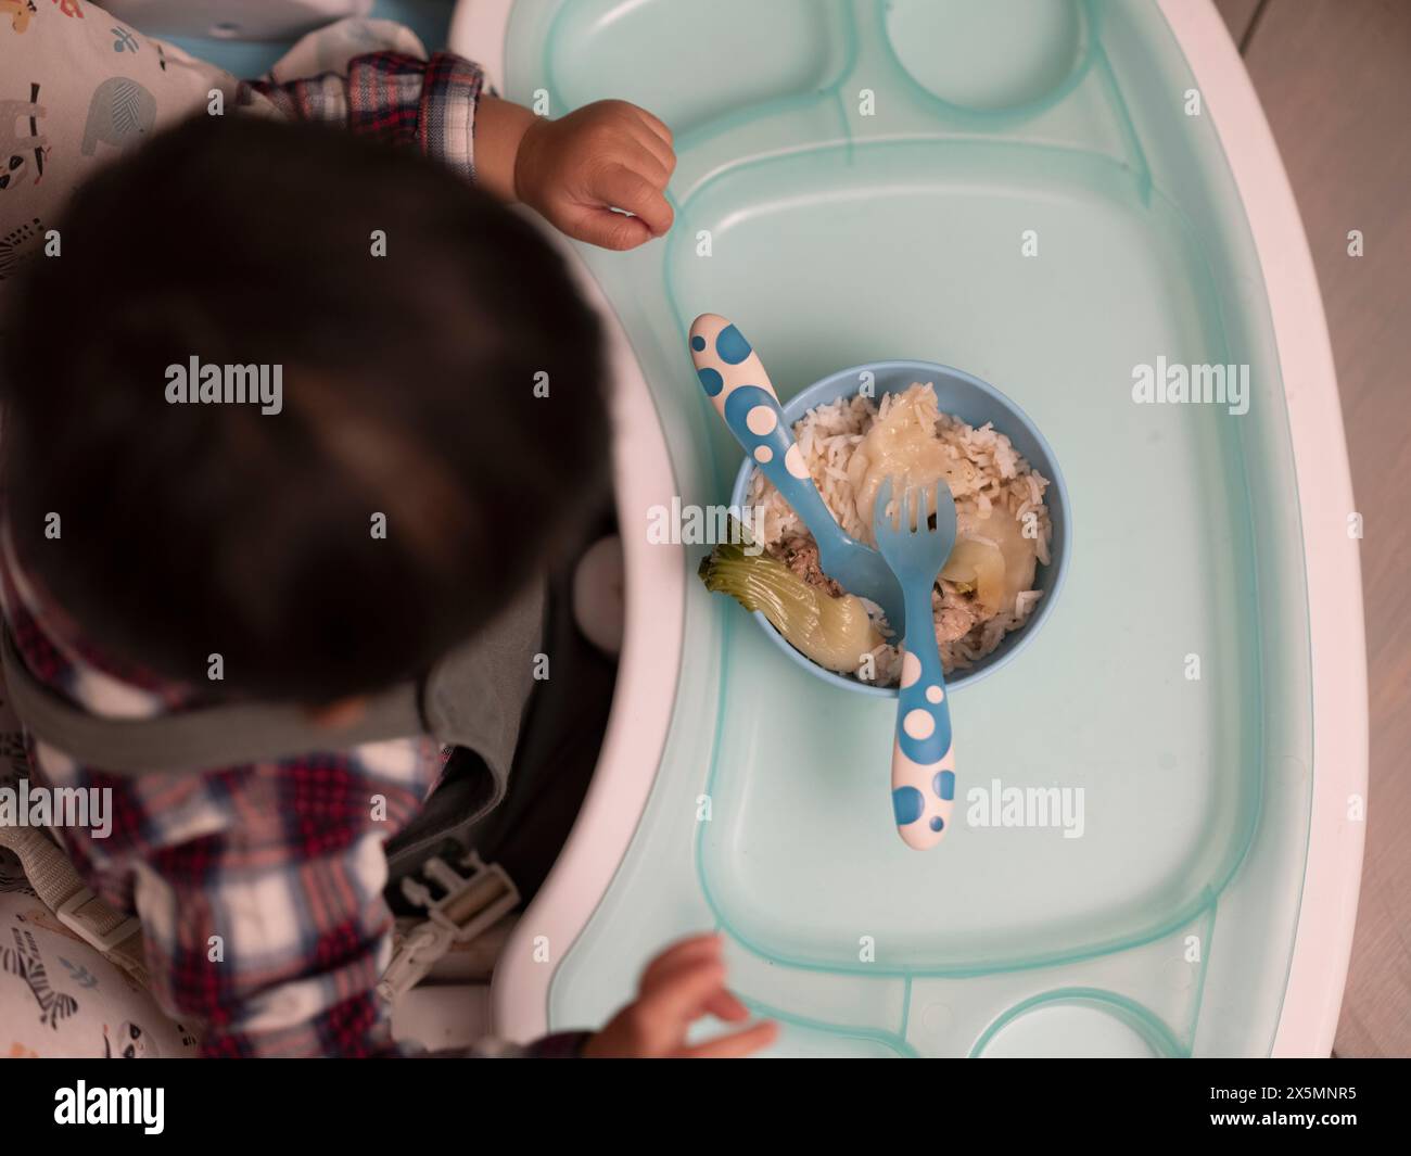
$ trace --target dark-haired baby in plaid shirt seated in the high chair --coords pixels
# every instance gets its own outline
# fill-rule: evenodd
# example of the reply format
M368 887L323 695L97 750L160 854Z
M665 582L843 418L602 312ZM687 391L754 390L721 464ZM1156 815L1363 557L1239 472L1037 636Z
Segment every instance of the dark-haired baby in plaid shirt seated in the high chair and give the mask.
M0 38L6 78L16 42ZM164 71L181 62L133 42ZM23 59L37 72L42 55ZM597 319L505 203L598 246L643 244L672 224L672 134L621 102L536 117L452 54L277 69L165 131L169 107L100 96L109 83L93 99L126 119L85 128L92 174L82 145L65 152L78 130L31 106L44 123L10 174L30 202L0 219L0 236L38 226L0 320L13 654L92 717L277 704L326 742L133 775L31 741L31 773L111 790L109 837L59 834L95 891L141 917L154 992L205 1022L203 1054L388 1054L384 844L442 752L350 737L373 696L492 628L605 481ZM63 203L31 212L42 181ZM260 404L198 390L203 366L258 370ZM655 960L602 1030L529 1050L746 1054L773 1037L756 1023L689 1047L707 1013L749 1018L714 936Z

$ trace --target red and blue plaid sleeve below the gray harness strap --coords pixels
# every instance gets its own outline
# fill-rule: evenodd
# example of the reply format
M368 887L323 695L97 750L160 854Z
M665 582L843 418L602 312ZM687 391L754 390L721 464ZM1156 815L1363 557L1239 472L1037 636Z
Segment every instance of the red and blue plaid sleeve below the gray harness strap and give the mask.
M375 985L391 956L385 838L439 765L430 740L213 769L107 775L42 745L52 785L111 792L110 830L61 831L143 920L158 1002L203 1056L395 1054Z

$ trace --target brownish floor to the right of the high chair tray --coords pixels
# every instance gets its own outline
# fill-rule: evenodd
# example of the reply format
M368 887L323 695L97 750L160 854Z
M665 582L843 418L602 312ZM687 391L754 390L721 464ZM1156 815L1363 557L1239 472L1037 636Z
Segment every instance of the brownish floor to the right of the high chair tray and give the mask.
M1216 3L1302 212L1364 519L1371 789L1336 1052L1411 1056L1411 3Z

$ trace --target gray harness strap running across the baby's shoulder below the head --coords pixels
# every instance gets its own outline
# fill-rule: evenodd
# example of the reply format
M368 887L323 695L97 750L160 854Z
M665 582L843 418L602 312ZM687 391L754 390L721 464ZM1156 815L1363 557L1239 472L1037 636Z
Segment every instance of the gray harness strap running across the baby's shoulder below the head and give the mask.
M298 707L260 703L157 718L104 718L41 685L8 630L0 631L0 658L10 700L25 728L78 762L117 775L200 773L423 733L447 745L468 747L484 759L494 782L477 792L474 814L437 819L437 834L443 836L484 814L505 793L543 625L545 582L539 576L476 638L439 662L423 686L394 686L374 696L357 723L339 728L317 725Z

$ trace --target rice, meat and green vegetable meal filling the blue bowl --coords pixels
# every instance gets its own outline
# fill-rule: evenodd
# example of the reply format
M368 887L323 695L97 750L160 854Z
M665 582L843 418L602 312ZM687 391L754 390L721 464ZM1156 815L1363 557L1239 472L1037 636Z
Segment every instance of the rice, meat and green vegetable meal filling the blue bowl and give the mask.
M810 409L794 423L794 440L838 525L871 546L876 545L873 507L885 478L896 480L893 493L928 487L938 478L950 487L955 548L931 591L945 673L974 666L1005 635L1024 627L1043 597L1034 586L1037 566L1050 562L1053 526L1044 504L1050 483L1009 438L991 423L975 428L943 414L933 384L914 383L903 392L883 394L880 404L852 395ZM707 586L734 594L749 610L762 610L818 665L876 686L895 686L902 673L902 639L880 607L842 590L820 569L813 535L758 470L749 504L763 508L756 532L766 552L753 559L759 565L746 582L738 567L751 559L742 553L742 560L725 559L717 550L701 566ZM731 566L713 577L711 563L725 562ZM787 582L776 567L787 569L796 582ZM834 610L832 600L845 600L845 608ZM858 624L858 607L865 610L872 634ZM845 627L835 638L827 625L832 618ZM872 645L859 648L859 641Z

